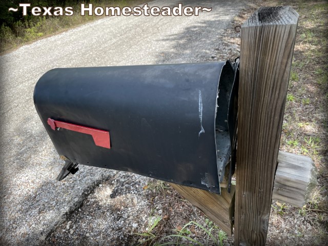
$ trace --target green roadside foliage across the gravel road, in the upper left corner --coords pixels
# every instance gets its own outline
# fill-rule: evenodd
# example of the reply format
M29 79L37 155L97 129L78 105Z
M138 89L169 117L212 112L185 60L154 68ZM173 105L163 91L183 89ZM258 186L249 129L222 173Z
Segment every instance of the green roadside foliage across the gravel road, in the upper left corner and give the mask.
M40 37L71 28L95 19L97 16L33 16L32 7L72 7L78 13L80 4L93 3L94 6L129 6L141 1L122 0L2 0L0 1L0 52L31 42ZM18 8L19 3L30 3L27 15L23 16L22 7L17 12L8 11L9 8Z

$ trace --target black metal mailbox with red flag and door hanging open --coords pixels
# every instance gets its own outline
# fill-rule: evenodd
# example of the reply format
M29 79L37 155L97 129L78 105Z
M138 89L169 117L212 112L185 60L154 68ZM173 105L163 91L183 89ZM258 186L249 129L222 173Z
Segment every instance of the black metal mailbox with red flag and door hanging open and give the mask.
M234 76L229 61L50 70L34 104L66 161L57 179L79 163L219 194Z

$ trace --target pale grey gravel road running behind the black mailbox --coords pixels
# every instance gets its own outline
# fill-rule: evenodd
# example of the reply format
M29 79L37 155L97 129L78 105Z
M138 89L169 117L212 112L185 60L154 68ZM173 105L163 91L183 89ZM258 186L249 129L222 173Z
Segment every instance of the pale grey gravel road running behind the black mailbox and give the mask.
M98 191L98 196L97 191L93 191L106 180L110 182L111 188L107 191L110 194L115 188L124 187L127 180L129 187L136 187L135 191L130 191L129 187L122 190L132 194L126 202L130 206L127 210L132 211L128 217L132 217L131 221L133 217L141 222L145 220L142 211L149 211L141 193L148 178L80 166L75 175L62 182L55 180L64 161L59 159L35 111L33 89L40 76L57 67L190 63L216 59L212 54L220 46L220 31L228 28L244 2L171 0L154 1L149 5L174 6L177 3L212 7L212 11L189 17L105 17L0 56L0 244L44 244L52 231L64 222L68 223L68 215L79 212L81 202L90 193L91 203L92 199L104 196L105 191ZM94 221L101 214L104 213L94 213ZM117 219L108 218L107 223L117 224L115 221ZM131 222L126 226L136 227L136 224ZM65 228L63 234L75 235L77 229L70 223ZM113 228L111 230L115 231ZM92 234L92 227L87 231ZM114 244L115 240L119 243L118 236L113 240Z

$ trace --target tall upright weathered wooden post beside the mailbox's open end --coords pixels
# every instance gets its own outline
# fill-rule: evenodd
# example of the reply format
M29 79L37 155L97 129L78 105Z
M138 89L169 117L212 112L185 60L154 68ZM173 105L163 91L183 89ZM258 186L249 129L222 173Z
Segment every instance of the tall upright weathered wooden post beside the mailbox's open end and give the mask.
M298 14L260 8L241 26L235 244L264 245Z

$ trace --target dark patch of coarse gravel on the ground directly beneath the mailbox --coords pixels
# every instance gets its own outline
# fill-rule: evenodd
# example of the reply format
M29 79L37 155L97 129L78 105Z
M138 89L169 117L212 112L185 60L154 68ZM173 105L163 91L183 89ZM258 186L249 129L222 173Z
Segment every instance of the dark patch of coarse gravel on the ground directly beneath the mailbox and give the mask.
M135 245L149 215L144 187L148 178L117 172L86 197L44 245Z

